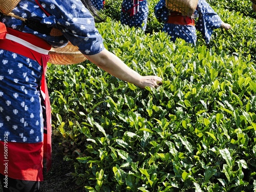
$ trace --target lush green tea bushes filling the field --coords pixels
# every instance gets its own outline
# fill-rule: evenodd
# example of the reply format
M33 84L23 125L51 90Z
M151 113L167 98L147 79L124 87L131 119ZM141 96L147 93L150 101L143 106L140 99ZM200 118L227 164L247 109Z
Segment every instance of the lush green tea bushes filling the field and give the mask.
M84 190L256 190L254 13L249 1L210 3L232 30L193 47L161 32L156 1L148 0L145 33L120 24L120 0L106 1L98 25L106 49L142 75L161 76L158 89L139 89L89 61L49 64L54 142Z

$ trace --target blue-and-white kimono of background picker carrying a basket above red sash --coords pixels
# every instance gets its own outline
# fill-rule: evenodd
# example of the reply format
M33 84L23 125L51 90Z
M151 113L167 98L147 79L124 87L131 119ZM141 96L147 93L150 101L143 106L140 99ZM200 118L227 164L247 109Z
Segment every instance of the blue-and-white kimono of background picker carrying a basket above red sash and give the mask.
M202 33L208 45L213 30L220 28L222 24L221 18L205 0L198 1L196 11L194 12L195 15L200 15L196 26L167 23L170 10L166 8L165 0L160 0L154 9L156 18L159 22L164 23L162 31L166 32L171 37L172 41L175 41L176 38L182 38L186 42L196 45L196 30L198 30Z

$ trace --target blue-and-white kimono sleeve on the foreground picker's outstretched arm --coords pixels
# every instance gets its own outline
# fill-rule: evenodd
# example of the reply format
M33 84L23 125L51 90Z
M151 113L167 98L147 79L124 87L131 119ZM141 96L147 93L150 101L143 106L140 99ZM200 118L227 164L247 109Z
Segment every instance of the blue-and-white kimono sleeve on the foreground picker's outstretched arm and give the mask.
M51 15L45 22L57 26L83 54L94 55L104 49L94 18L81 1L41 0L41 5Z

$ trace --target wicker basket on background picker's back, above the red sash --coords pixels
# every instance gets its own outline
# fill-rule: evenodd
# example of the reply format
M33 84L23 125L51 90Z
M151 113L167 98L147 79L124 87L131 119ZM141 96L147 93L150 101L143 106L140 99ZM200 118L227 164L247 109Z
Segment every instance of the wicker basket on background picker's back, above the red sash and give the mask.
M192 16L198 4L198 0L166 0L166 7L183 15Z

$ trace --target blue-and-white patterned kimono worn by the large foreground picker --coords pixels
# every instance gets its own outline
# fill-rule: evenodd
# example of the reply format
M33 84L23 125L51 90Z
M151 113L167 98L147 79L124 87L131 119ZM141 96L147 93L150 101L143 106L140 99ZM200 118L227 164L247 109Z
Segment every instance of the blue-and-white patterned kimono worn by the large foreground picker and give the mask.
M104 49L94 18L80 1L40 0L40 3L51 16L47 16L34 0L21 0L13 13L37 19L42 25L61 30L63 35L42 34L28 28L22 20L7 19L7 16L1 17L0 22L45 39L53 47L63 46L69 40L85 55ZM0 49L0 141L6 133L12 142L42 141L41 76L42 67L35 60Z

